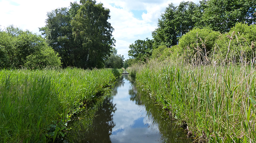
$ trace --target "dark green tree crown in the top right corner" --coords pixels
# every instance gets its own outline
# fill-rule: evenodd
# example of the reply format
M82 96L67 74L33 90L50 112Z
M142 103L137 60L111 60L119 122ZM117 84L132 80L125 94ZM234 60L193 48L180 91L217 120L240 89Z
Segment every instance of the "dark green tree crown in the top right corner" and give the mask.
M206 2L202 19L203 26L214 31L228 32L237 22L248 25L256 21L255 0L209 0Z

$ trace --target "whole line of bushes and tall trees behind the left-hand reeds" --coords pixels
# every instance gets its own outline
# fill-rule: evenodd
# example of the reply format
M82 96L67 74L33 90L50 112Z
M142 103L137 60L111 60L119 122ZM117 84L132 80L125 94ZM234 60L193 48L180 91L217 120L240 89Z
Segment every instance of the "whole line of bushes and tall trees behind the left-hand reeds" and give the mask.
M48 12L43 36L13 25L0 29L0 68L122 68L109 13L102 3L80 0Z

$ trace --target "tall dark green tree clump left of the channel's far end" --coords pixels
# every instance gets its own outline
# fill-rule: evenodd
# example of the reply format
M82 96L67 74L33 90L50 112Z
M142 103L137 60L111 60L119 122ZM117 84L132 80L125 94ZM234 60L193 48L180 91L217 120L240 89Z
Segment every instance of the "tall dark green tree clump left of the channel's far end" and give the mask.
M46 26L40 30L62 57L63 67L103 68L115 43L109 13L102 3L81 0L71 3L70 9L49 12Z

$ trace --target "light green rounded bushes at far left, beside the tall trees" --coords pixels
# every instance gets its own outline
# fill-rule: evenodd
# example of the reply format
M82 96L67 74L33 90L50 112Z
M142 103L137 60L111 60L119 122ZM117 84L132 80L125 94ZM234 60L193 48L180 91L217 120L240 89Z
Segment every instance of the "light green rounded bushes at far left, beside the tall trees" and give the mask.
M48 46L45 39L12 25L0 31L0 67L31 68L60 67L58 53Z

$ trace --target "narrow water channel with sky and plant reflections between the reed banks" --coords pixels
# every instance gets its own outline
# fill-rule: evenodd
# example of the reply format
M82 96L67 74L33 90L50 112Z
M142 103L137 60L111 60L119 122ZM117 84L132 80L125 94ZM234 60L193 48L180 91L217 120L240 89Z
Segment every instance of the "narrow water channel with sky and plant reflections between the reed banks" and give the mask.
M175 127L166 112L129 81L116 83L112 97L95 118L81 117L72 123L66 143L189 143L183 129Z

